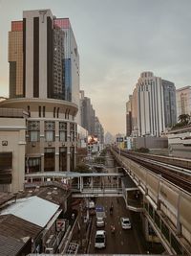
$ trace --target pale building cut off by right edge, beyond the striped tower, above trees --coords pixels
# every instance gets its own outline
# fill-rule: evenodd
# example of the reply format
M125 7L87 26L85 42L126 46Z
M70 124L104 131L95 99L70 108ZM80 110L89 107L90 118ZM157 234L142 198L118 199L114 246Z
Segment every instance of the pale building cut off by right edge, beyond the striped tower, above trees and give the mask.
M185 86L177 90L177 116L191 115L191 86Z

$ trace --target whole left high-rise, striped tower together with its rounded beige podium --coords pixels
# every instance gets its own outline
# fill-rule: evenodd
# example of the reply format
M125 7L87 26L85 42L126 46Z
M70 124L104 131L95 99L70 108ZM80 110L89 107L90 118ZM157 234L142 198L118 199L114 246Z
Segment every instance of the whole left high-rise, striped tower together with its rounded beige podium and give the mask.
M66 20L69 24L69 19ZM79 73L74 75L73 65L77 70L78 54L76 45L68 48L76 63L71 64L70 72L66 71L65 59L70 55L67 56L65 44L70 42L67 39L70 35L58 25L51 10L24 11L23 21L11 22L10 99L1 102L0 107L21 108L28 113L24 129L26 141L21 139L18 143L25 143L25 152L19 155L23 157L24 169L19 171L26 179L19 180L19 189L25 181L32 180L31 174L74 171L76 164L77 124L74 120L78 110L75 96L79 97ZM75 58L70 61L74 62ZM70 88L66 77L71 81ZM14 158L17 148L11 149ZM11 173L16 170L12 166ZM35 180L41 181L39 177ZM4 185L3 188L11 187Z

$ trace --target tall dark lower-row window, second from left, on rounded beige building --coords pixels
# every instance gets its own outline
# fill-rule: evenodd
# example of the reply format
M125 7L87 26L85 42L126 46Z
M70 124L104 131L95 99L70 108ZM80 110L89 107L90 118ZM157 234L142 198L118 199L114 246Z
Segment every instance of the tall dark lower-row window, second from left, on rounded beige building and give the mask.
M46 148L44 152L44 171L54 172L55 171L55 149Z

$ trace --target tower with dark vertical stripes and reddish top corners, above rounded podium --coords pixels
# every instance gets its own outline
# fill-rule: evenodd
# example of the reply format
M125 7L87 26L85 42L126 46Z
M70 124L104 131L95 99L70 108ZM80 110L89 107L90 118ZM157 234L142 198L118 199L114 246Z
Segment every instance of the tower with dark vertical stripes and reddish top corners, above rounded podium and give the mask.
M79 56L69 18L24 11L9 33L10 98L51 98L79 105Z

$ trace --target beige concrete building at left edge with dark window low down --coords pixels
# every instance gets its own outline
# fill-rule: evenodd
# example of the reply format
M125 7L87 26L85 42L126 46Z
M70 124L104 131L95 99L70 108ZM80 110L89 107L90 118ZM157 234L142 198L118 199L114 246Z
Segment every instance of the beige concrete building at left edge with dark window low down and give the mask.
M27 117L22 109L0 108L0 192L23 190Z

